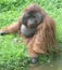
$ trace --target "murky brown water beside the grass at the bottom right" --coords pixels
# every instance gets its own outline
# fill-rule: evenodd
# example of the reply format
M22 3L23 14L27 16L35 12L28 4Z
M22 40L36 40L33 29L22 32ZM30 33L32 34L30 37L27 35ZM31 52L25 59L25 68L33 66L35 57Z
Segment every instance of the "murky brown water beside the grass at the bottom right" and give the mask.
M49 64L32 65L28 70L62 70L62 57Z

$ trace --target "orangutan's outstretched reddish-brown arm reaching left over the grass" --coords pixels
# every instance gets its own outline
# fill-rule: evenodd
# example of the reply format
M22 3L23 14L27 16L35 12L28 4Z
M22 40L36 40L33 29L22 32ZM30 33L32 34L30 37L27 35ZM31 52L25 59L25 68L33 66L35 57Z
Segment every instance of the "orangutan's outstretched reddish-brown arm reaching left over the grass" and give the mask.
M9 33L16 33L21 29L22 20L18 19L17 23L13 23L12 25L0 29L0 34L9 34Z

